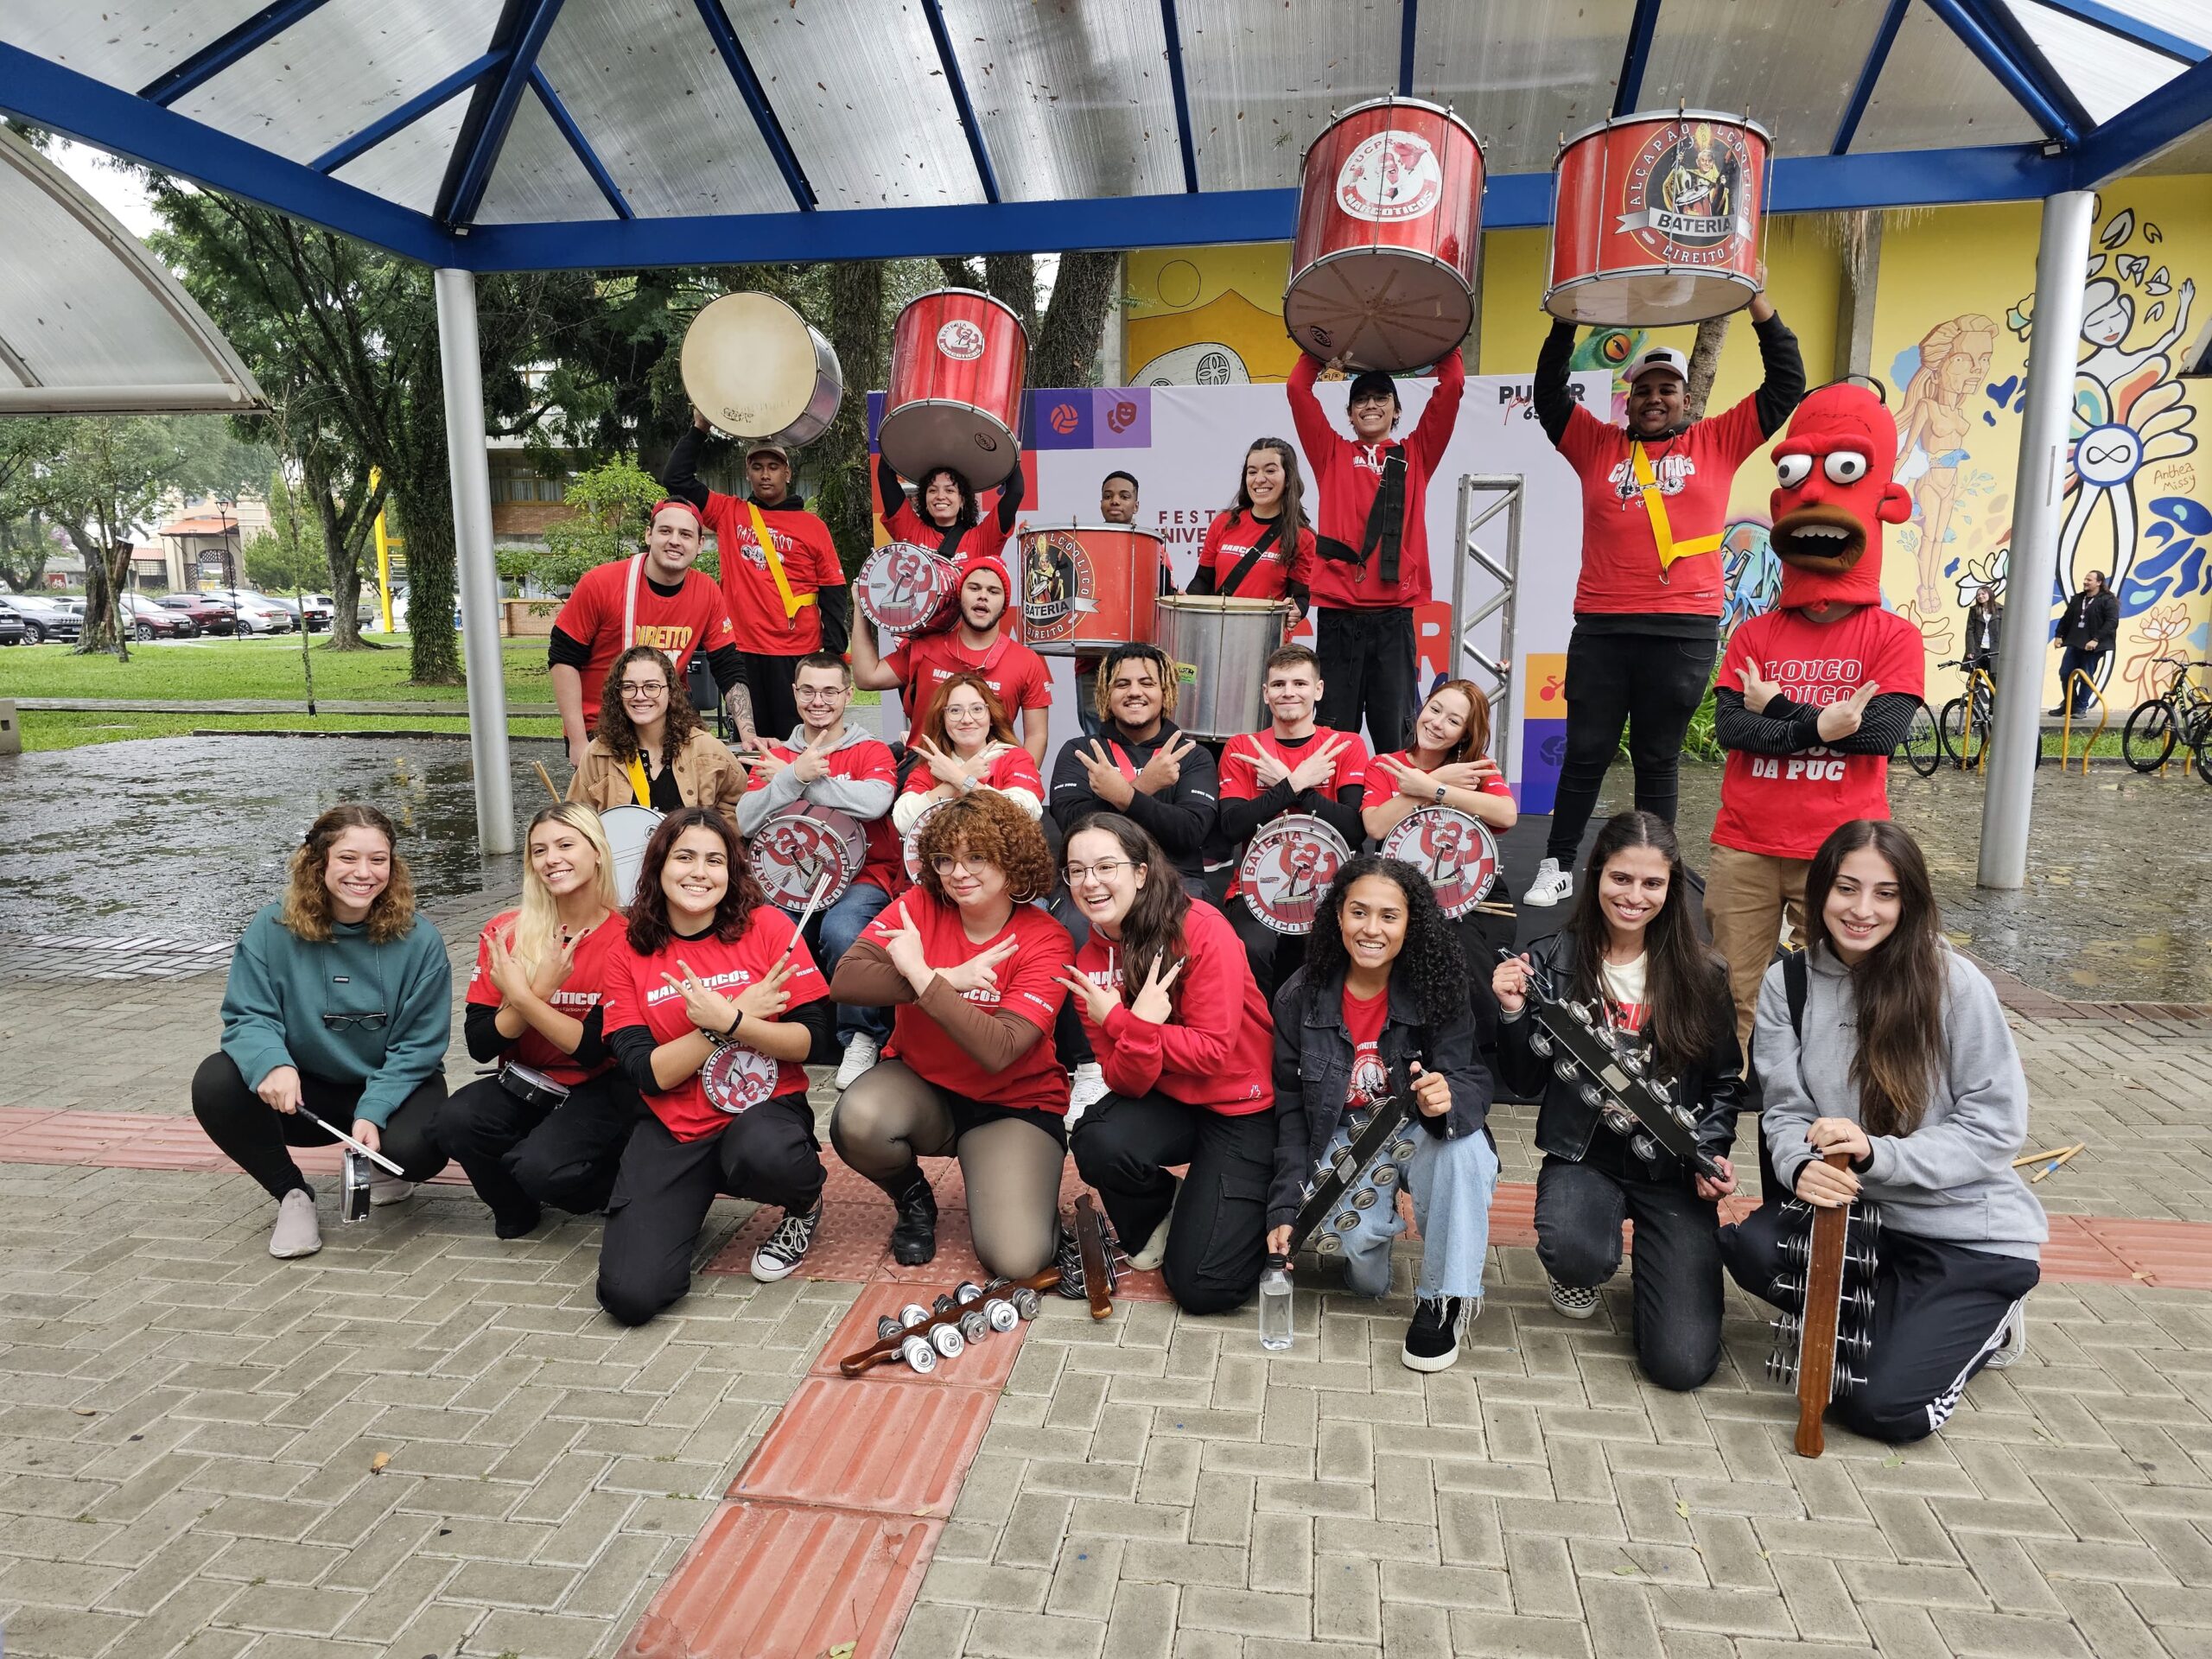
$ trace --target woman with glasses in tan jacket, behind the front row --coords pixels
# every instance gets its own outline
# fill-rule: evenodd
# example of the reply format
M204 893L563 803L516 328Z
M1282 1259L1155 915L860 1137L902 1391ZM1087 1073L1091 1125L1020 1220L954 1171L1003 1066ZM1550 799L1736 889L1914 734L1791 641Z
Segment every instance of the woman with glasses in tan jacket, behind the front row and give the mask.
M712 807L734 825L743 792L745 768L699 723L675 664L653 646L630 646L615 657L599 726L568 779L568 799L597 812Z

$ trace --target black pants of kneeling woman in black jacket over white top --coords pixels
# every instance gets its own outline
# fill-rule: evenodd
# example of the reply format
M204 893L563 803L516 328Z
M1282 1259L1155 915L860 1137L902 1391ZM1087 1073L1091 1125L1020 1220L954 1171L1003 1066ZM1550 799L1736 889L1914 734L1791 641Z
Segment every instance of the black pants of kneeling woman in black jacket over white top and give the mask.
M1637 1223L1628 1270L1637 1365L1663 1389L1694 1389L1721 1363L1719 1206L1681 1179L1639 1181L1544 1157L1535 1177L1535 1254L1544 1272L1597 1290L1621 1267L1621 1221Z

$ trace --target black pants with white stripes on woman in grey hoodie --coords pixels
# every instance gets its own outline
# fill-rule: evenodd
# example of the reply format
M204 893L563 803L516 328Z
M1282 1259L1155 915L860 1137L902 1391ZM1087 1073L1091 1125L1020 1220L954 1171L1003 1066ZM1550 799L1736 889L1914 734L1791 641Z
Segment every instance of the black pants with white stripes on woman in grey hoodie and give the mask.
M1721 1228L1721 1259L1752 1296L1772 1303L1774 1279L1798 1272L1781 1252L1790 1232L1778 1201ZM1637 1252L1644 1252L1641 1230ZM1936 1433L2037 1279L2042 1267L2026 1256L1993 1256L1882 1228L1874 1265L1874 1345L1863 1367L1867 1385L1840 1396L1827 1416L1869 1440Z

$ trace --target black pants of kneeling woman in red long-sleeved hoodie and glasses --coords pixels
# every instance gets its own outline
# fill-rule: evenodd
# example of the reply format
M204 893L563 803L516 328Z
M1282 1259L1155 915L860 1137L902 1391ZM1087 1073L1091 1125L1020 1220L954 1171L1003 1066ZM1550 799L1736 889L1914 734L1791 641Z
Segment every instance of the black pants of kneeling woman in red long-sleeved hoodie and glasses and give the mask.
M1267 1267L1274 1113L1223 1117L1166 1095L1106 1095L1068 1139L1124 1250L1144 1250L1175 1203L1161 1276L1186 1314L1241 1307ZM1175 1197L1170 1164L1188 1164Z

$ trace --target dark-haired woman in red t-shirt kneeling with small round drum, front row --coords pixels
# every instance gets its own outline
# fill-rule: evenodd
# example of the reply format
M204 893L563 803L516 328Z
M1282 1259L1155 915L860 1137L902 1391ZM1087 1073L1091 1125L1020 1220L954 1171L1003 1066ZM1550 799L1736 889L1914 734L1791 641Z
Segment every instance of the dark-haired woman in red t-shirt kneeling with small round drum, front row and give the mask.
M810 1060L830 1053L830 987L768 902L719 812L670 812L646 843L628 949L606 973L606 1046L650 1117L630 1130L599 1239L599 1307L644 1325L690 1290L717 1194L781 1206L752 1252L774 1283L821 1221Z

